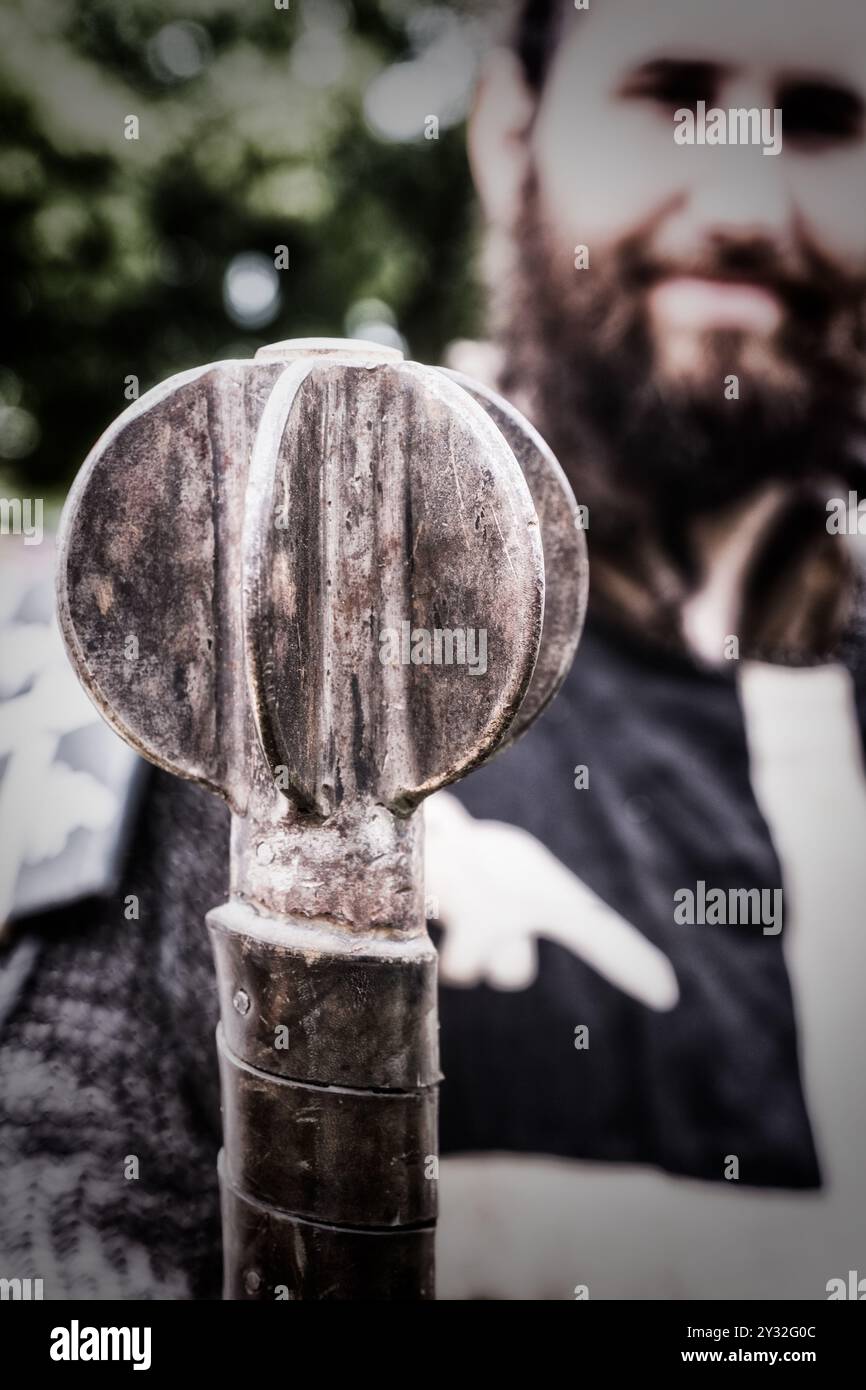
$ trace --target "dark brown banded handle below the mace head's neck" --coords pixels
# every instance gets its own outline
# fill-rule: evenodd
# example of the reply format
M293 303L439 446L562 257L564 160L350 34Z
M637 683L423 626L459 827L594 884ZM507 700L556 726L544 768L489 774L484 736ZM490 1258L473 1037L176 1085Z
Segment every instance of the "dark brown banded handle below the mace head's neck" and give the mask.
M238 901L207 926L222 1019L224 1295L303 1297L318 1264L328 1297L432 1297L430 940L352 940Z

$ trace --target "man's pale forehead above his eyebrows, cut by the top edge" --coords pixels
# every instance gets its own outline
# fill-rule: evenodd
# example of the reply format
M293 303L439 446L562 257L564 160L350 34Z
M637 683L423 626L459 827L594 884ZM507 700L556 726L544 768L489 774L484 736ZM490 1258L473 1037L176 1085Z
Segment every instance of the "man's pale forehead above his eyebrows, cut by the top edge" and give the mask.
M835 78L866 89L866 0L591 0L567 7L557 61L660 58Z

